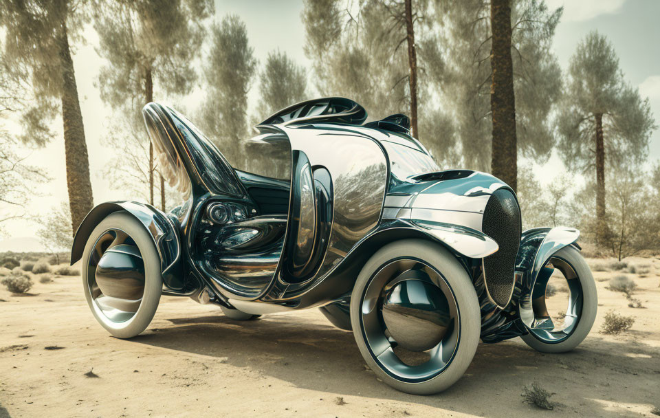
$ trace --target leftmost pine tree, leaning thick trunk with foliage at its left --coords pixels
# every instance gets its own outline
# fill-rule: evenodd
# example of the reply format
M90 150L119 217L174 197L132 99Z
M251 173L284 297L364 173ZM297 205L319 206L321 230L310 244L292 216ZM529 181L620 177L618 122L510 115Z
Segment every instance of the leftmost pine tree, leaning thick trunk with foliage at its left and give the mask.
M69 43L76 39L85 21L83 12L79 3L67 0L0 3L0 25L5 30L5 70L17 79L28 80L36 100L36 105L23 118L28 135L39 133L42 139L48 137L45 120L39 118L50 118L55 111L62 115L73 231L94 206L83 115Z

